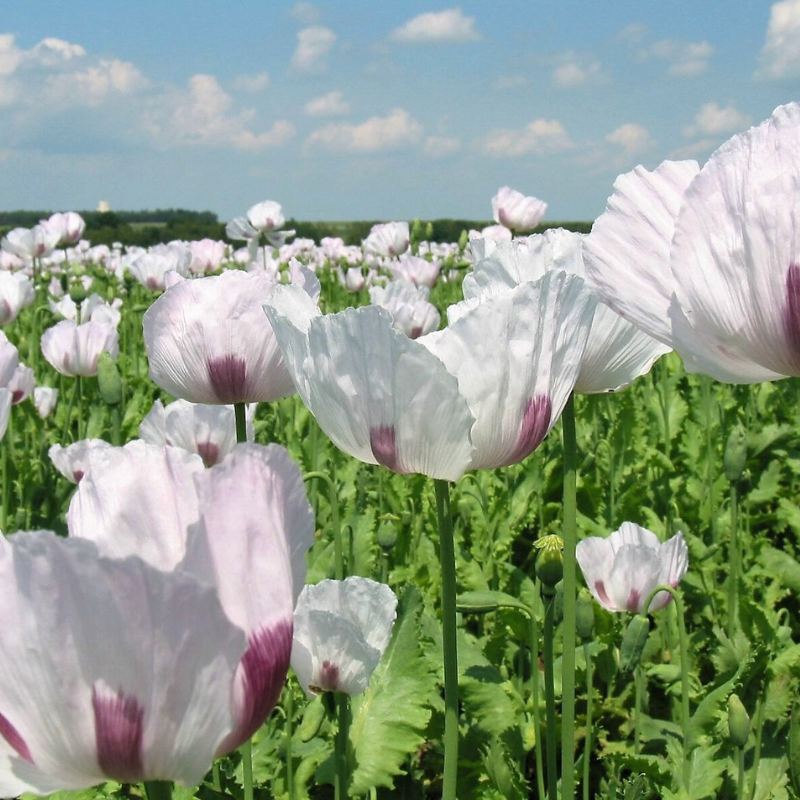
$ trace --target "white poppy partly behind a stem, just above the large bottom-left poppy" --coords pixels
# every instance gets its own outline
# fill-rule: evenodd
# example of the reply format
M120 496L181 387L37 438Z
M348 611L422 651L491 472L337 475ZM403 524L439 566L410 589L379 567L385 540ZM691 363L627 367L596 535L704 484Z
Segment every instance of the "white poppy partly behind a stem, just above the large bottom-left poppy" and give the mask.
M247 440L253 440L256 404L245 414ZM166 408L160 400L139 425L139 436L151 444L180 447L196 453L207 467L218 464L236 446L236 420L233 406L203 405L176 400Z

